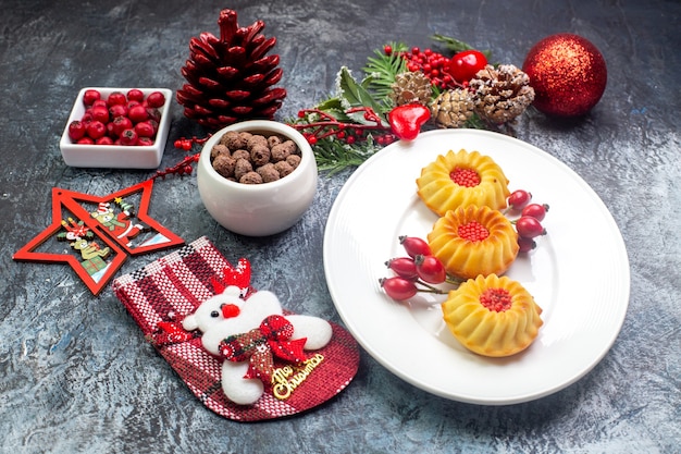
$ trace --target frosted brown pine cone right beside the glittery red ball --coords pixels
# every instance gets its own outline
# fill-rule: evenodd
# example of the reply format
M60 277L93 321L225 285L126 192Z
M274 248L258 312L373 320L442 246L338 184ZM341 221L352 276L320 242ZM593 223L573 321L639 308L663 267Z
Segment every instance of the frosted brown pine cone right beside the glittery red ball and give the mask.
M475 112L493 123L506 123L520 115L534 100L528 74L512 64L487 64L470 82L475 93Z

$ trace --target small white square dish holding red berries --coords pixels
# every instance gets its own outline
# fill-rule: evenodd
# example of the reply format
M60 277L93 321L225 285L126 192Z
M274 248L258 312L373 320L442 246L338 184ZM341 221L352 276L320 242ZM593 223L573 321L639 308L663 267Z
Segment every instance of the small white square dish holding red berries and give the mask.
M108 98L113 91L127 93L131 88L86 87L78 93L66 127L59 142L59 148L66 165L79 168L111 168L111 169L157 169L163 158L168 132L170 131L171 115L170 105L173 93L168 88L139 88L145 97L152 91L161 91L165 96L165 103L160 108L161 121L153 145L82 145L74 144L69 137L69 124L74 120L81 120L85 113L83 95L88 89L98 90L102 99Z

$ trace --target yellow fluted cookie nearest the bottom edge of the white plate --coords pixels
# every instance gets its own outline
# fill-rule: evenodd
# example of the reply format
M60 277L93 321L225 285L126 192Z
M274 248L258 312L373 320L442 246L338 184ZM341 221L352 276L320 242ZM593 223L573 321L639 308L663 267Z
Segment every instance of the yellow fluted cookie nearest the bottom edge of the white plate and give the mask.
M542 308L528 291L506 277L479 275L449 292L442 304L445 322L468 349L510 356L525 349L543 324Z

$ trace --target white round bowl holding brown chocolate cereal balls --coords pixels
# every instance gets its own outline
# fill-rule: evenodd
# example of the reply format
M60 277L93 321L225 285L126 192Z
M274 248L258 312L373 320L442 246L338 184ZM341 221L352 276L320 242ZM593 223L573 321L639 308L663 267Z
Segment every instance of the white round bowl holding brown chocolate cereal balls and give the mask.
M228 131L290 138L300 150L300 164L270 183L230 181L210 162L213 145ZM317 161L302 134L284 123L267 120L235 123L214 133L203 145L197 167L199 195L210 216L225 229L248 236L273 235L294 225L314 199L317 177Z

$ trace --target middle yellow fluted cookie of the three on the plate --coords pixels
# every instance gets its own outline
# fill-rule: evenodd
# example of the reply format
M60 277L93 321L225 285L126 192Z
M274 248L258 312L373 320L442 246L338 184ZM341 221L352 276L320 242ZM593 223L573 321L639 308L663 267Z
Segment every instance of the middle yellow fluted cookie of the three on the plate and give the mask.
M503 274L518 256L518 233L500 211L469 205L447 211L428 234L431 251L459 279Z

